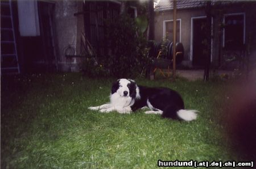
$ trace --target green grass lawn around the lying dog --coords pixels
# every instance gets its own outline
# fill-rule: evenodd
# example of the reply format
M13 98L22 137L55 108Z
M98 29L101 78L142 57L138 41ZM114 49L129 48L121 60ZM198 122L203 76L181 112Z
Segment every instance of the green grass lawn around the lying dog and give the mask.
M142 110L87 109L109 101L113 80L73 73L2 78L1 167L157 168L158 159L237 159L220 123L228 82L136 79L180 92L185 108L200 111L184 122Z

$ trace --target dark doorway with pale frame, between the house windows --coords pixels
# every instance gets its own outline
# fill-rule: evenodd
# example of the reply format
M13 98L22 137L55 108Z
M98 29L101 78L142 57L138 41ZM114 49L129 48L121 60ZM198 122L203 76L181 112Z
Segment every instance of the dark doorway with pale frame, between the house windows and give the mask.
M193 24L193 61L194 67L203 68L205 65L207 44L205 40L207 39L205 26L207 18L196 18L192 20Z

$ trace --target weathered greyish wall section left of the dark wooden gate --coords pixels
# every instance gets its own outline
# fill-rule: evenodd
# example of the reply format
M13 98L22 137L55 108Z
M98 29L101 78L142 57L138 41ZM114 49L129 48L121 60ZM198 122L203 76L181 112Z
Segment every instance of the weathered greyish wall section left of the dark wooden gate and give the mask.
M81 1L82 2L82 1ZM65 49L70 47L76 54L77 17L79 1L55 1L55 29L59 71L78 71L76 58L65 57Z

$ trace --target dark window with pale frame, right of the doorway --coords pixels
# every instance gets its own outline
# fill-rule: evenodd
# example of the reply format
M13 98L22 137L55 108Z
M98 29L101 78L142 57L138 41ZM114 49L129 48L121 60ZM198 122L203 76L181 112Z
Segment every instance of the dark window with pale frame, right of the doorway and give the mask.
M239 49L245 44L245 14L224 15L223 47Z

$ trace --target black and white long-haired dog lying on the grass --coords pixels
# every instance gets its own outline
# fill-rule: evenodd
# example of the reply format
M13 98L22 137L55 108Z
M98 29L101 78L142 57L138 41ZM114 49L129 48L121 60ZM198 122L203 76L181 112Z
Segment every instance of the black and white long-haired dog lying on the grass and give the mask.
M137 86L131 79L118 79L112 85L110 103L89 109L130 113L143 107L151 109L145 113L159 114L164 118L192 121L197 117L196 110L184 109L183 99L176 91L165 87Z

